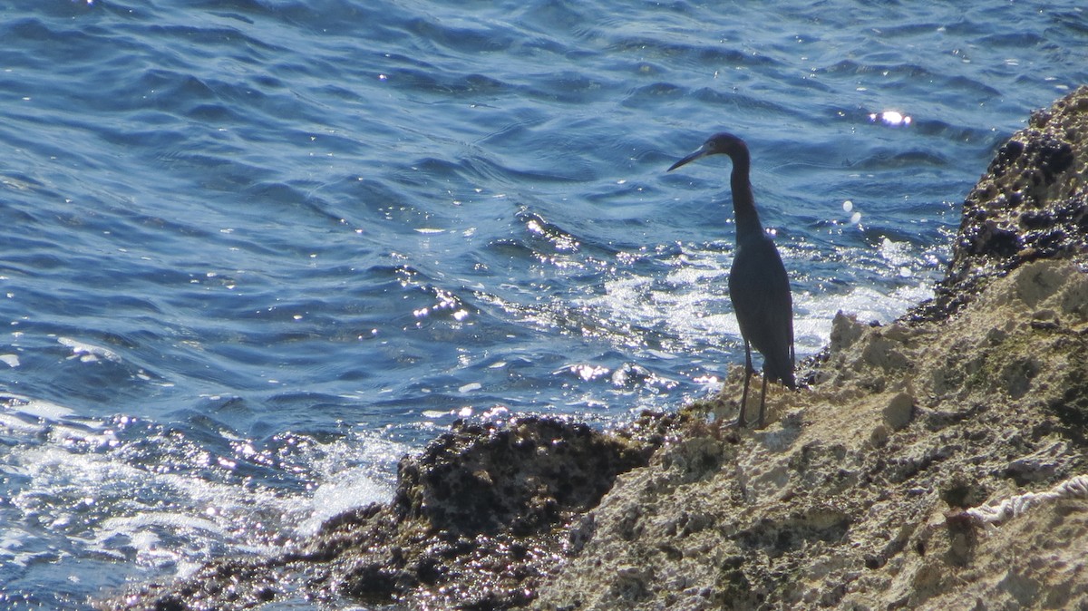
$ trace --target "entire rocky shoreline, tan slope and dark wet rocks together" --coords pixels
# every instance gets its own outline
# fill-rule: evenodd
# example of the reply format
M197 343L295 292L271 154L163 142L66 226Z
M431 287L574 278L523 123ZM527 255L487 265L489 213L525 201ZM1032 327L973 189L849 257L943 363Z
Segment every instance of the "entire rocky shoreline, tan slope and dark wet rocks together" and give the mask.
M937 297L840 314L763 431L458 423L395 498L100 609L1088 608L1088 88L964 202ZM724 397L740 396L740 367Z

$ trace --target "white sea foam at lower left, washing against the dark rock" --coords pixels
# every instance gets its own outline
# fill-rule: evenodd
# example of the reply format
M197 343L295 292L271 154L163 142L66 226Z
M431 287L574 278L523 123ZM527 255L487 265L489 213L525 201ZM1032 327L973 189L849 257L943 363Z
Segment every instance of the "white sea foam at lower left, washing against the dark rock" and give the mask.
M234 441L236 456L215 457L154 426L145 438L124 440L114 424L131 420L75 417L71 409L27 397L8 396L7 403L0 428L20 441L0 453L0 473L14 478L0 507L0 562L13 565L52 550L50 558L135 559L184 575L217 556L274 553L279 544L269 541L312 533L336 513L388 500L392 465L407 451L370 433L329 442L305 438L284 469L306 474L310 484L295 491L244 486L225 463L255 458L251 444ZM221 475L201 474L194 469L200 464ZM27 529L28 522L48 528Z

